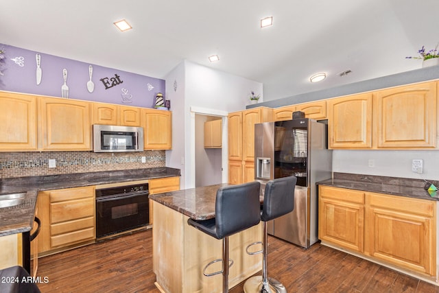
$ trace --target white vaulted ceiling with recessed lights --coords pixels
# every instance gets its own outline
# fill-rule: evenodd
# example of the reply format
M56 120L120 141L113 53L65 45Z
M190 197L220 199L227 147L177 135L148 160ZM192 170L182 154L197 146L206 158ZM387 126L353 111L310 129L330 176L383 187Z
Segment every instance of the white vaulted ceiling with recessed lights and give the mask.
M0 43L154 78L189 60L263 83L268 101L420 68L405 56L436 47L438 12L438 0L8 0Z

